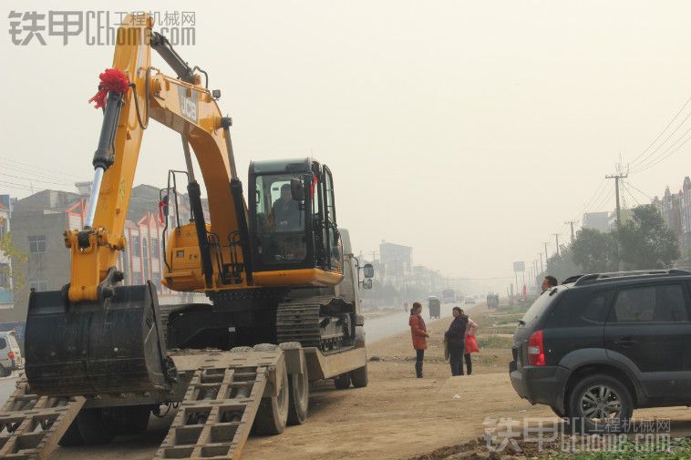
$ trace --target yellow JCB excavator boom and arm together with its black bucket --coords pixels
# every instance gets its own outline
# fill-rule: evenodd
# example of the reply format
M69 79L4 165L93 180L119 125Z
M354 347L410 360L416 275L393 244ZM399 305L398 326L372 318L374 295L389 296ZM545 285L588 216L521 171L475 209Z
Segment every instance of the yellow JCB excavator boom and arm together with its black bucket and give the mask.
M143 286L117 286L123 274L116 261L126 244L123 230L132 181L150 119L180 133L188 164L194 222L183 231L197 244L195 251L189 251L192 263L186 267L191 269L183 273L186 282L181 285L209 290L220 282L211 264L210 232L217 236L215 241L231 240L232 235L241 245L249 240L230 118L222 117L216 98L200 85L194 69L151 26L149 15L129 15L118 31L113 68L129 79L129 87L108 90L85 227L65 233L70 282L62 291L32 291L29 298L26 376L36 394L166 391L176 379L163 341L156 289L150 281ZM177 78L150 66L151 49L173 67ZM206 185L210 224L201 210L190 147ZM161 164L168 162L169 152L156 154ZM230 256L232 247L216 244L214 250L222 259ZM234 280L246 285L252 270L249 251L244 246L241 250L233 257L245 276ZM169 282L175 282L175 275L180 273L166 273Z

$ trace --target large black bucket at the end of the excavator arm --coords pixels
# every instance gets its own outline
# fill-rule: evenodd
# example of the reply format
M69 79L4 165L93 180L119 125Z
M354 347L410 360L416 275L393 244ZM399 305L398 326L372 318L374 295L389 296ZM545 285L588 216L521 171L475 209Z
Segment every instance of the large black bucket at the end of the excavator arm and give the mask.
M105 302L64 304L60 291L32 291L26 317L26 378L32 393L123 394L166 390L167 358L150 282L114 289Z

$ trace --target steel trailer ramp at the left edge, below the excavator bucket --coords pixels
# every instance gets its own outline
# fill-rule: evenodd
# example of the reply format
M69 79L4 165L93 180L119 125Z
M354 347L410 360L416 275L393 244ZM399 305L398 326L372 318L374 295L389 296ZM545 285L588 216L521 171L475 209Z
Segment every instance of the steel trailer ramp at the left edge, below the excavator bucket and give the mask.
M47 459L84 402L81 396L31 394L26 380L19 380L0 410L0 459Z

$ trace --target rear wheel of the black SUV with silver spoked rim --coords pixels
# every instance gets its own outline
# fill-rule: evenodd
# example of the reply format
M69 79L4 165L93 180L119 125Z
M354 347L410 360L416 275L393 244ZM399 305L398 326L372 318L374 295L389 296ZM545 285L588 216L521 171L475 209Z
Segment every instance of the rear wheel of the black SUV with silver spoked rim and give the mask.
M572 424L586 433L615 433L631 418L631 394L618 379L603 373L584 378L569 396Z

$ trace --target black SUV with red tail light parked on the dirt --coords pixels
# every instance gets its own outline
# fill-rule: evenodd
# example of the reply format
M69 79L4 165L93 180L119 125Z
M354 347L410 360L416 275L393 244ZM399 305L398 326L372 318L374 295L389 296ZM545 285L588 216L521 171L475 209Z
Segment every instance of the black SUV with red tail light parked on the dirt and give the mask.
M634 408L691 404L691 272L574 276L513 335L511 384L531 404L616 431Z

